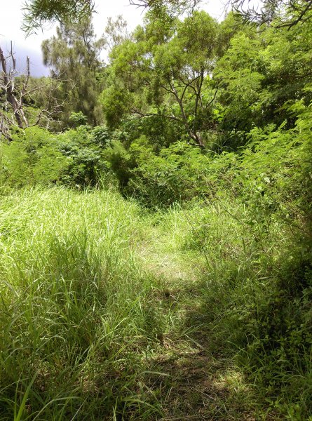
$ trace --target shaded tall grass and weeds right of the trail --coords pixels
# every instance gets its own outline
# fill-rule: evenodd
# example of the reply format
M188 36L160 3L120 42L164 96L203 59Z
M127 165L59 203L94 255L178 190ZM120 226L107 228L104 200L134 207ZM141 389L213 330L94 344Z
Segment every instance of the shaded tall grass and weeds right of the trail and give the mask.
M259 419L310 420L312 277L299 218L285 223L229 197L165 215L172 218L180 250L202 255L200 300L186 326L199 326L212 356L243 372L253 391L245 403Z

